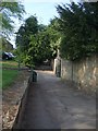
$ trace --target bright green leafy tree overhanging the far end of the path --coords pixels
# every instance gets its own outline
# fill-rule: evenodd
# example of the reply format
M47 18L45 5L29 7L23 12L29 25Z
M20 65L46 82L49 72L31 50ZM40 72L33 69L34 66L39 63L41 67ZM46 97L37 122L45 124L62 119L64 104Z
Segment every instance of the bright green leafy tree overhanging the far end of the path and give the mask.
M39 25L38 33L30 39L30 53L35 64L40 64L45 60L51 60L57 57L59 48L60 34L56 31L57 19L51 20L48 26Z

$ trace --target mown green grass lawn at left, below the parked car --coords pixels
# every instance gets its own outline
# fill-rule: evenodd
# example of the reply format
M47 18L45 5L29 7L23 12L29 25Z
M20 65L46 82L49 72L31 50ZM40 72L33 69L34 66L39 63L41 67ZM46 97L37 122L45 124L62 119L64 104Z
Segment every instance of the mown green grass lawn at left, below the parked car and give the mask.
M24 68L22 63L21 68ZM17 69L19 63L14 60L0 61L0 88L8 88L12 83L14 83L19 74Z

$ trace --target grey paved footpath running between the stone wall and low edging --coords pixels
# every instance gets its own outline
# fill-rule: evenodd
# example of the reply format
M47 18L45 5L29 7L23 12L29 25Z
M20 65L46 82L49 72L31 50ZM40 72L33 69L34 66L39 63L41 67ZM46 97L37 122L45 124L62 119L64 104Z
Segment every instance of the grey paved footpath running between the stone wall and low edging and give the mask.
M96 129L96 99L69 87L50 71L37 71L21 128Z

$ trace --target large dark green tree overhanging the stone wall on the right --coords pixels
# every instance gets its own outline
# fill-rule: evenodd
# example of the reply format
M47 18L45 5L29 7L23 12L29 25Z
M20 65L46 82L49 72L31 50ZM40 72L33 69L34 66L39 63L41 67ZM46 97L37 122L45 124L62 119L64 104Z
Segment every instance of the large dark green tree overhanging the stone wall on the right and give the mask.
M61 56L81 59L98 50L98 2L58 5Z

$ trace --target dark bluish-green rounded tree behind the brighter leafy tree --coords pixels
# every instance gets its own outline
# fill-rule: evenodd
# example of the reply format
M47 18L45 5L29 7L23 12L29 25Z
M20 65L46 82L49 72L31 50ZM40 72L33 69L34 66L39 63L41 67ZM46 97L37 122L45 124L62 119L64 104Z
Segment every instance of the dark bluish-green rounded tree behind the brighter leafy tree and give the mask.
M30 35L38 33L38 21L36 16L29 16L25 20L25 24L22 25L16 33L16 46L20 46L22 51L27 51L29 48Z

